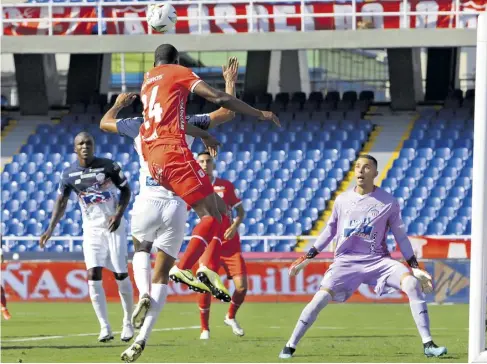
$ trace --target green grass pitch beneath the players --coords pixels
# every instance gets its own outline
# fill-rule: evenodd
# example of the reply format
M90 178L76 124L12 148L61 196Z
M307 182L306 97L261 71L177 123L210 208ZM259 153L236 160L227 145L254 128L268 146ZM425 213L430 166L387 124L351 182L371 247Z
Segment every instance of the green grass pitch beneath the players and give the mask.
M211 309L211 339L199 340L196 304L167 304L138 362L281 362L277 355L304 307L297 303L247 303L237 315L245 329L236 337L223 324L226 304ZM12 303L2 321L2 362L121 362L128 345L120 334L98 343L90 303ZM425 358L409 305L332 304L301 341L294 362L466 362L468 305L430 306L432 333L448 347L440 359ZM114 331L121 306L109 304ZM81 334L81 335L80 335ZM84 334L84 335L83 335Z

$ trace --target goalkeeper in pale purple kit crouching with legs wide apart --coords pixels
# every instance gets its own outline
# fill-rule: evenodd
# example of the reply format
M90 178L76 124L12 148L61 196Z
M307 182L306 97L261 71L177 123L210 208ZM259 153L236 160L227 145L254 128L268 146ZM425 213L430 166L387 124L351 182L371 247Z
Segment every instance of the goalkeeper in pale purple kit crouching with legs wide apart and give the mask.
M438 357L447 353L445 347L438 347L433 342L430 333L424 293L433 290L431 276L419 268L406 235L398 202L391 194L374 185L377 174L377 160L370 155L361 155L355 164L357 186L337 197L326 229L308 254L291 265L290 275L298 274L336 238L333 264L326 271L320 290L301 312L279 358L291 358L320 311L331 301L345 302L362 283L374 285L378 295L394 290L403 291L409 298L411 313L423 341L424 354ZM389 228L411 270L390 257L386 245Z

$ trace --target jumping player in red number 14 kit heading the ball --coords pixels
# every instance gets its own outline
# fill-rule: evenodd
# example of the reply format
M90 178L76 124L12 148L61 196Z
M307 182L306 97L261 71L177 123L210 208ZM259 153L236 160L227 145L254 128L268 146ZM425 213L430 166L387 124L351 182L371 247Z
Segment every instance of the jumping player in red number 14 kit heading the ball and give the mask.
M142 152L152 177L180 196L200 217L188 249L178 264L178 278L191 285L195 279L191 268L205 249L209 257L218 259L217 252L225 232L221 226L226 217L222 217L218 210L210 179L193 158L185 141L189 92L228 110L271 120L277 125L279 119L272 112L254 109L234 96L210 87L178 63L179 54L172 45L163 44L156 49L154 68L146 73L141 89L145 121L140 127L140 135ZM230 300L217 273L202 265L196 274L215 297Z

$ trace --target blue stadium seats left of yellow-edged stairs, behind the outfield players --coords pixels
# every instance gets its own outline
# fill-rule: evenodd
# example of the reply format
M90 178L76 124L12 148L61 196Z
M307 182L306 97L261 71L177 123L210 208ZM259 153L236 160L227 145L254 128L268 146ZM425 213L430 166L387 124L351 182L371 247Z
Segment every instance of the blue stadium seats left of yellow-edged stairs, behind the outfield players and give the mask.
M114 100L116 95L112 98ZM237 116L215 135L223 143L216 161L216 172L235 183L247 216L240 226L242 235L302 235L313 228L333 193L339 188L351 164L373 130L364 112L373 101L373 93L337 92L326 97L312 92L270 94L246 101L279 112L282 129L270 123ZM76 133L86 130L96 141L96 154L121 164L134 193L139 191L139 162L129 139L99 130L103 102L73 105L59 124L40 125L20 153L2 173L2 234L39 236L48 224L56 199L62 170L76 160L71 153ZM140 102L123 116L137 116ZM188 113L209 112L212 106L194 98ZM285 133L285 141L280 137ZM195 152L203 149L196 143ZM133 202L133 199L132 199ZM132 204L131 202L131 204ZM131 210L131 206L128 211ZM126 214L127 219L130 215ZM191 214L186 224L190 234L197 217ZM79 236L81 214L73 194L66 215L54 235ZM37 242L10 241L10 251L36 251ZM68 251L67 242L54 241L50 251ZM294 244L270 241L273 251L291 251ZM74 249L81 246L75 243ZM131 247L131 249L133 249ZM262 241L243 241L243 251L262 251Z

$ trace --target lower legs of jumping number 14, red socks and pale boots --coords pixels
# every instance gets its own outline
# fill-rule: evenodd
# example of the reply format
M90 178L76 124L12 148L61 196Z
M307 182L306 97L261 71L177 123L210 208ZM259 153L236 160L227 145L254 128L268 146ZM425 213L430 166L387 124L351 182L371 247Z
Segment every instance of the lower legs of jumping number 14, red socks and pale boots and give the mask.
M214 193L210 194L192 206L201 220L193 230L192 238L183 258L177 266L171 269L170 277L176 282L183 282L191 287L194 280L191 268L205 252L205 249L216 252L218 244L221 245L222 215L218 209L215 196ZM196 275L198 280L208 287L213 296L219 300L230 302L230 293L223 285L218 273L203 265L200 266Z

